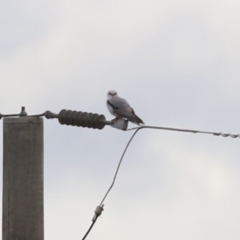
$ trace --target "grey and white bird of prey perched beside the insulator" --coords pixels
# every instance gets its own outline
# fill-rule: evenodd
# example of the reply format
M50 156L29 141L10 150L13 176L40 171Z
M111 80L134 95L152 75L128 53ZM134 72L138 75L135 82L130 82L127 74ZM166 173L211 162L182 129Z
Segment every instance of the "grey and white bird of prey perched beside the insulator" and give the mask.
M119 97L115 90L110 90L107 93L107 108L117 119L127 119L137 125L144 124L143 120L135 114L129 103L124 98Z

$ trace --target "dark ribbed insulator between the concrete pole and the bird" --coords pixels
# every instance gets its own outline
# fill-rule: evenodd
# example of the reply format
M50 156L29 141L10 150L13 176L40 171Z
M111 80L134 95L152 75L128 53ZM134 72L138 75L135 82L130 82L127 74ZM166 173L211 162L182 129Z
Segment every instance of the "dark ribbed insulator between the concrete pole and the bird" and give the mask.
M104 115L99 115L97 113L77 112L66 109L60 111L58 114L58 121L61 124L95 129L103 129L106 125L106 119Z

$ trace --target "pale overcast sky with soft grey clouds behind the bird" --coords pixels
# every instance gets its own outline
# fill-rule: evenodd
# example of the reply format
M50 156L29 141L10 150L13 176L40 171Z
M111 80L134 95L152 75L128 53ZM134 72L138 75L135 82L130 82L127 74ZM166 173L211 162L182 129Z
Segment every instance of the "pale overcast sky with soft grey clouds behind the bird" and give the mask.
M239 12L239 0L1 1L0 112L110 120L114 89L147 125L238 134ZM133 132L44 128L45 239L82 239ZM240 239L239 144L141 130L87 239Z

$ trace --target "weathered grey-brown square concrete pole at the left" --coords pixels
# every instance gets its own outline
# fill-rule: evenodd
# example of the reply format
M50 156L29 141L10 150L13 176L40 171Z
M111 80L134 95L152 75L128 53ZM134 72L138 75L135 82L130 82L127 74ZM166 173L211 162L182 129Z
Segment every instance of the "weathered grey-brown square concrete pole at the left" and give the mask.
M43 240L43 119L3 119L3 240Z

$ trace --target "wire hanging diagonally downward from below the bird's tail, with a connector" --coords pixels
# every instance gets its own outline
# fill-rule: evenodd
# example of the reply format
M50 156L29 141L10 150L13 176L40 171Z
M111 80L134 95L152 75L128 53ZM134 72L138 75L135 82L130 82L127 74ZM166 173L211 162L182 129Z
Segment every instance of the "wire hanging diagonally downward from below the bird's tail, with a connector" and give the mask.
M114 184L115 184L115 182L116 182L116 178L117 178L117 175L118 175L118 172L119 172L119 169L120 169L120 166L121 166L123 157L124 157L124 155L125 155L128 147L129 147L131 141L133 140L134 136L137 134L137 132L138 132L140 129L142 129L142 128L141 128L141 127L137 128L136 131L135 131L135 132L133 133L133 135L131 136L131 138L129 139L129 141L128 141L128 143L127 143L127 145L126 145L126 147L125 147L125 149L124 149L124 151L123 151L123 153L122 153L122 156L121 156L121 158L120 158L120 160L119 160L119 163L118 163L116 172L115 172L114 177L113 177L112 184L111 184L110 187L108 188L108 190L107 190L106 194L104 195L104 197L103 197L100 205L97 207L97 209L96 209L96 211L95 211L95 215L94 215L94 217L93 217L93 219L92 219L92 224L90 225L88 231L86 232L86 234L84 235L84 237L83 237L82 240L86 239L87 235L88 235L89 232L92 230L93 225L94 225L95 222L97 221L98 217L101 215L101 213L102 213L102 211L103 211L103 206L104 206L104 205L103 205L103 202L104 202L105 199L107 198L109 192L111 191L111 189L113 188L113 186L114 186Z

